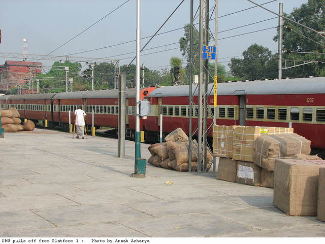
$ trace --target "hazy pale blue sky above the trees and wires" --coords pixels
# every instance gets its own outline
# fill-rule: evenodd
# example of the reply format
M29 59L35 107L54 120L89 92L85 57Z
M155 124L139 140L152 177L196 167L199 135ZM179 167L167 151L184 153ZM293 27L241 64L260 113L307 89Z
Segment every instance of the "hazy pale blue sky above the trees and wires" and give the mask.
M146 68L170 69L171 57L183 59L183 66L186 66L179 39L184 36L184 25L190 23L190 0L181 2L140 1L141 49L147 44L141 52L140 64ZM267 3L263 6L275 13L279 12L279 3L283 3L283 12L288 14L308 0L252 2L259 5ZM199 0L194 0L194 14L199 3ZM215 1L211 0L209 27L213 36L214 6ZM230 59L242 58L242 52L252 44L277 52L278 44L272 40L277 34L276 14L246 0L219 0L218 9L217 62L224 65L227 71L230 70ZM198 16L193 23L199 28ZM158 35L148 43L160 27ZM4 57L5 54L1 53L22 54L23 39L27 39L28 54L107 58L120 60L120 66L129 65L136 57L136 28L136 0L1 0L0 65L6 60L22 60L12 56ZM215 41L212 40L209 45L215 45ZM28 58L28 61L42 62L45 66L54 63L53 60L45 59ZM85 63L81 64L83 69L88 68ZM136 65L136 60L132 64Z

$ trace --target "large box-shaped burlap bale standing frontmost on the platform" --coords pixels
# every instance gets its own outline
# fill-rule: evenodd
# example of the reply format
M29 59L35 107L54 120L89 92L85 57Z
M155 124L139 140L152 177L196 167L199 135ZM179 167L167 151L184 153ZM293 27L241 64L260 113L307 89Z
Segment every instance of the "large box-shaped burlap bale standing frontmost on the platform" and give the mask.
M290 216L317 216L319 168L323 160L277 159L273 204Z

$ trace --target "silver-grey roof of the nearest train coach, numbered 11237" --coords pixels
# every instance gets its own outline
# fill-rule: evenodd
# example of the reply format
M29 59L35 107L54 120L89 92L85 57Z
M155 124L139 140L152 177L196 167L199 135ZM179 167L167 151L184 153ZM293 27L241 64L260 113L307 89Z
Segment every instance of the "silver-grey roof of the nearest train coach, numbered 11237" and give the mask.
M214 95L213 83L208 84L209 96ZM217 95L267 95L323 93L325 77L282 80L256 80L218 83ZM189 85L165 86L153 90L149 97L182 97L189 95ZM192 85L192 96L198 96L198 85Z

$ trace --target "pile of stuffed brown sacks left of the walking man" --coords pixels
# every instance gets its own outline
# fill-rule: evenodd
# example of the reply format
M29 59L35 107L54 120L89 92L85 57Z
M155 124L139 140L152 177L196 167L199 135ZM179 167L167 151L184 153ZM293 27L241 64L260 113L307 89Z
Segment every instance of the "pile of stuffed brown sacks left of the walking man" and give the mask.
M2 109L1 110L1 128L5 132L17 131L33 131L35 124L31 120L27 120L24 125L21 125L20 114L16 108Z

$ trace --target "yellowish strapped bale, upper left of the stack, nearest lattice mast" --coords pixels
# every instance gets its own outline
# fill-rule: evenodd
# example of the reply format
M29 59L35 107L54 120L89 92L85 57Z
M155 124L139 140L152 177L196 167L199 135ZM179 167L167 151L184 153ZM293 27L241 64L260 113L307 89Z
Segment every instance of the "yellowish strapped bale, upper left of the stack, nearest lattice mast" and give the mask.
M233 158L233 134L238 126L213 126L213 156Z

